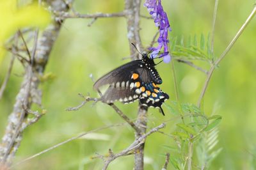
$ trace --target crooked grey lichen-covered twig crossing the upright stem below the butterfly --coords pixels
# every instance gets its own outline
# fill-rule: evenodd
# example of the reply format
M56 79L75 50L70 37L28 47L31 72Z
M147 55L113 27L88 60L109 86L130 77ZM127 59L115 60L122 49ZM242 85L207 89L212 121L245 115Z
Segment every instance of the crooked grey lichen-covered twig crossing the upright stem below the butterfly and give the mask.
M109 164L118 157L131 155L132 153L134 153L134 151L136 153L136 150L141 146L141 144L145 143L145 139L148 137L148 135L153 134L154 132L157 132L159 129L164 127L165 127L165 123L162 123L161 125L152 128L146 134L141 135L141 137L139 137L138 139L135 139L135 141L130 146L128 146L125 150L121 151L120 153L109 154L109 156L104 161L104 167L102 169L107 169Z

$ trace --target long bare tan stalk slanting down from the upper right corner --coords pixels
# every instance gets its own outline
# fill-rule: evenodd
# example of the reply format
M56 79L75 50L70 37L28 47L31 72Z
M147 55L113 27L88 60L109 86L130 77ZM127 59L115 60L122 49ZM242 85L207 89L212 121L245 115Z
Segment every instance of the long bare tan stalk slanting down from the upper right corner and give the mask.
M233 40L229 43L228 47L224 50L224 52L221 54L220 58L218 58L214 63L213 65L211 66L208 74L207 74L207 77L205 79L205 82L204 82L204 87L202 88L202 91L200 93L200 97L198 99L198 102L197 102L197 105L198 107L200 107L201 105L201 102L202 102L202 99L204 98L204 94L205 94L205 91L207 89L207 86L209 84L209 81L211 79L211 76L212 76L212 73L214 72L215 68L217 65L219 65L219 63L221 62L221 60L223 58L225 58L225 56L227 55L228 51L231 49L231 47L233 47L234 43L236 42L236 40L239 38L239 36L241 35L241 33L243 33L244 29L246 28L246 26L248 26L248 24L250 23L250 21L253 19L253 17L255 16L256 14L256 6L254 6L252 12L250 13L249 17L246 19L246 21L244 22L243 26L239 29L239 31L236 33L236 36L234 36Z

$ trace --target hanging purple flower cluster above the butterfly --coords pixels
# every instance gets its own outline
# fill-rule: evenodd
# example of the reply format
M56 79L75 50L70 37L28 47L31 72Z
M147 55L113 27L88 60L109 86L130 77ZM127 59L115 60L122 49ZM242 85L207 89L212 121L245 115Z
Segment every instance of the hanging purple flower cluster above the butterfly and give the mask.
M149 50L152 50L150 57L156 58L164 46L164 52L159 58L164 58L164 63L169 63L171 56L168 51L168 31L172 31L172 29L170 28L169 20L166 12L164 12L161 0L146 0L144 6L148 8L148 12L154 19L155 25L159 28L159 38L157 39L158 46L149 48Z

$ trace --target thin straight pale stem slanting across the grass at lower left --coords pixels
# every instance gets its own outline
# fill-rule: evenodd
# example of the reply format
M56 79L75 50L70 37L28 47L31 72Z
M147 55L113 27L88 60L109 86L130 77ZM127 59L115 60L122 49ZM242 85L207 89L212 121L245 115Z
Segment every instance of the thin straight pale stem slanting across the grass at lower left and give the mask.
M32 158L38 157L38 156L42 155L43 153L46 153L46 152L51 151L51 150L53 150L55 148L58 148L59 146L61 146L63 144L69 143L70 141L74 141L75 139L83 137L84 135L87 135L87 134L90 134L90 133L93 133L93 132L98 132L98 131L104 130L106 128L120 127L122 125L125 125L125 123L118 123L118 124L115 124L115 125L108 125L106 127L95 128L94 130L90 130L88 132L83 132L82 134L79 134L77 136L71 137L70 139L67 139L67 140L65 140L65 141L63 141L61 143L55 144L54 146L52 146L50 148L47 148L46 150L40 151L39 153L36 153L35 155L32 155L31 157L25 158L24 160L21 160L20 162L17 162L16 164L13 164L12 167L19 166L20 164L22 164L24 162L27 162L28 160L31 160Z

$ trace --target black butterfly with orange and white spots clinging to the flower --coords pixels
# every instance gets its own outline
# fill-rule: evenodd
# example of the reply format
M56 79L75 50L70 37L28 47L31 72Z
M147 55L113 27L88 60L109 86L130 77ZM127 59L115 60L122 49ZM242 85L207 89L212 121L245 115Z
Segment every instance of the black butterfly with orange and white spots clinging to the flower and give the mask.
M157 107L164 115L161 105L169 96L157 86L163 81L155 66L154 60L148 54L143 54L142 59L126 63L101 77L93 88L99 89L109 84L102 102L110 104L120 101L129 104L140 100L141 105Z

